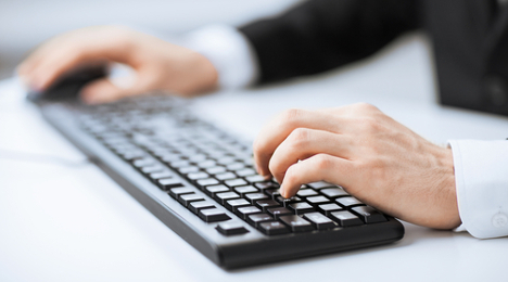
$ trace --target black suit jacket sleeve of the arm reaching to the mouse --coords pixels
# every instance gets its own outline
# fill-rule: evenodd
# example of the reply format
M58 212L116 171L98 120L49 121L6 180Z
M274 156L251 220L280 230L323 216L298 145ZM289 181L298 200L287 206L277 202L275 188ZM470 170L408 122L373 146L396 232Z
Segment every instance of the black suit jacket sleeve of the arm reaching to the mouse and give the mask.
M255 50L264 84L366 57L418 28L419 18L417 0L312 0L240 31Z

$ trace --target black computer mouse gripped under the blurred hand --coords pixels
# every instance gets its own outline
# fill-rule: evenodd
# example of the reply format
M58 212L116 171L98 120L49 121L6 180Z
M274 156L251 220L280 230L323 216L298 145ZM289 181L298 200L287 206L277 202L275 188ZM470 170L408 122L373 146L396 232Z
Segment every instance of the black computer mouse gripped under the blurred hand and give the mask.
M81 88L107 75L105 64L80 66L60 77L42 92L30 91L27 98L33 102L78 100Z

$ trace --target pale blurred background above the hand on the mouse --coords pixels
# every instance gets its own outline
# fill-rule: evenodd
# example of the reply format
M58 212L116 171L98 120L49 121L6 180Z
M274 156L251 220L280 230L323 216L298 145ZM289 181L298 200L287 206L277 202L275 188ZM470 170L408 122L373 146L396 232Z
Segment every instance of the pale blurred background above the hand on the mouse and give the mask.
M301 0L0 0L0 79L39 43L90 25L127 24L167 35L203 25L234 26L275 15Z

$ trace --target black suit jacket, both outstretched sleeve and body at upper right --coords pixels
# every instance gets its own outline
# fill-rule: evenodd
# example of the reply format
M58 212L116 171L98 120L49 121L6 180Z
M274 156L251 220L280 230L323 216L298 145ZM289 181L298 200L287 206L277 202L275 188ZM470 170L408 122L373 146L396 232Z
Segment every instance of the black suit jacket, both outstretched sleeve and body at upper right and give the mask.
M416 29L433 42L443 104L508 115L508 9L495 0L310 0L240 31L266 84L355 62Z

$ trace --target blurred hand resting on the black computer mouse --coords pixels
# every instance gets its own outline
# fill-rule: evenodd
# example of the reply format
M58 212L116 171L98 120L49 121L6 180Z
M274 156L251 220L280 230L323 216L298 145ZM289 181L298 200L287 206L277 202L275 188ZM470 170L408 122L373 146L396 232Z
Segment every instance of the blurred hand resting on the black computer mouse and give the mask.
M30 54L18 74L31 88L43 91L66 72L97 62L127 64L137 72L137 79L127 89L107 79L94 81L81 91L89 103L153 90L191 95L217 85L217 70L203 55L119 26L87 27L58 36Z

